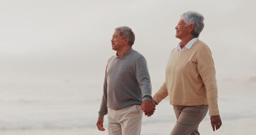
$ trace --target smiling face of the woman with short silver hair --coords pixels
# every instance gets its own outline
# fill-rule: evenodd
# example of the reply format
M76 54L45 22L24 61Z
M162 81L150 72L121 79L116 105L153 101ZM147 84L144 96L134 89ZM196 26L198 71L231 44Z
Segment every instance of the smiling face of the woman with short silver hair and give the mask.
M185 21L179 20L178 25L175 27L176 29L176 38L182 39L190 34L189 26L186 24Z

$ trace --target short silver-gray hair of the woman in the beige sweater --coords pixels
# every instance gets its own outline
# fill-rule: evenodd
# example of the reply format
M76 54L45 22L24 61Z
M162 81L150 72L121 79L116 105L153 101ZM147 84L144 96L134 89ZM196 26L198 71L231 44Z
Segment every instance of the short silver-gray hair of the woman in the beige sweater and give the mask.
M191 34L196 38L199 37L199 34L204 29L204 16L201 15L201 13L196 11L187 11L181 15L181 20L185 21L188 25L194 25L195 28L191 31Z

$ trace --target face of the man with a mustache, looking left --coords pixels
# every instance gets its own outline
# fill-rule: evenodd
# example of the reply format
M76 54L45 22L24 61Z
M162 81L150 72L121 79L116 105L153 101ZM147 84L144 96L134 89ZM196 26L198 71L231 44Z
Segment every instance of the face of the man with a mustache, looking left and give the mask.
M125 46L125 38L123 38L120 35L120 31L119 30L115 30L114 34L112 36L111 39L111 43L112 43L112 49L115 51L119 51L122 49L122 47Z

